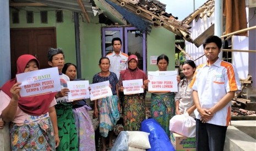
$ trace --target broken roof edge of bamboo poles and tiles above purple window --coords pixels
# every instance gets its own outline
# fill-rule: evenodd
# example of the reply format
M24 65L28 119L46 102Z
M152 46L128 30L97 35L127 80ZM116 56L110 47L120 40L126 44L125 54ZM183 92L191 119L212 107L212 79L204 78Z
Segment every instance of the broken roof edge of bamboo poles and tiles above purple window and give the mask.
M165 11L166 4L157 0L110 0L111 2L120 5L130 12L140 16L141 18L152 22L154 26L162 26L167 30L182 37L188 42L193 42L190 37L189 28L184 21L178 21L177 17L168 14ZM132 24L132 22L130 22ZM135 24L135 23L134 23Z

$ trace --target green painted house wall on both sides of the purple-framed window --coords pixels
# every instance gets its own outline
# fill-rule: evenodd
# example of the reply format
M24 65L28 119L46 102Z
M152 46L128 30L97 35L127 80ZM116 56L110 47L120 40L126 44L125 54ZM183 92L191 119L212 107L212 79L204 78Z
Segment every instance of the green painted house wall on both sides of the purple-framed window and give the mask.
M63 22L56 23L55 10L48 11L48 24L41 24L40 10L27 9L34 12L34 23L26 23L26 11L20 10L20 24L12 24L12 12L10 9L10 27L11 28L27 28L27 27L56 27L57 47L63 49L65 61L77 63L75 56L75 33L74 22L72 21L72 11L63 10ZM41 9L42 10L42 9ZM80 29L80 50L81 50L81 75L82 78L90 80L94 74L100 72L99 60L101 57L101 27L105 24L97 24L99 22L97 16L90 18L91 23L84 22L85 19L79 15ZM84 20L84 21L83 21ZM165 28L152 28L150 35L147 35L147 71L156 71L156 65L150 65L150 56L158 56L166 54L169 57L168 70L175 69L175 35ZM46 54L47 55L47 54Z

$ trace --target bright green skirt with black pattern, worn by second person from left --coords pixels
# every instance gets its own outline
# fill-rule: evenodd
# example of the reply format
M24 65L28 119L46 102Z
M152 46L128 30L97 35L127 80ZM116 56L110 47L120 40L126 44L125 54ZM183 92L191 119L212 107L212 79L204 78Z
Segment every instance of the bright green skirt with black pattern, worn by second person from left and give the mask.
M72 112L72 103L58 103L55 109L60 140L56 150L78 150L78 137Z

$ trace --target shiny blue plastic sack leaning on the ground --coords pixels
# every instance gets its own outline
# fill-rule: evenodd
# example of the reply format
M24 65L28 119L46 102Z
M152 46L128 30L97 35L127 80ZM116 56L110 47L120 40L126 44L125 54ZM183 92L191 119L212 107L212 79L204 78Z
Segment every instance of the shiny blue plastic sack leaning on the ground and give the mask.
M140 131L148 132L151 148L147 151L175 151L164 129L155 119L142 121Z

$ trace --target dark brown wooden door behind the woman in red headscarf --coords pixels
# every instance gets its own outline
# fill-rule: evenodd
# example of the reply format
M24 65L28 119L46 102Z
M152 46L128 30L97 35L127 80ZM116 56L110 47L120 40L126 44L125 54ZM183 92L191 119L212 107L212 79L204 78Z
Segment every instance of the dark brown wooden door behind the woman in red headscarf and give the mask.
M47 63L47 52L49 48L56 48L55 27L11 28L10 50L12 78L17 73L17 59L23 54L34 55L40 62L40 69L50 67Z

